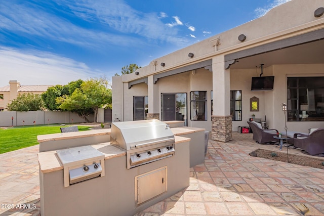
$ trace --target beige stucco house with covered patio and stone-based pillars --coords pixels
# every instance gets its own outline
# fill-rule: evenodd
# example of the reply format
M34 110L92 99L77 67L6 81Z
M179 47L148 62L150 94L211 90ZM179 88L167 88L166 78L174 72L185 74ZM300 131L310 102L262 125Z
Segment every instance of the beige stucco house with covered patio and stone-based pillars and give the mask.
M112 77L112 121L185 120L227 142L252 114L284 131L286 103L289 131L324 127L323 13L324 0L293 0Z

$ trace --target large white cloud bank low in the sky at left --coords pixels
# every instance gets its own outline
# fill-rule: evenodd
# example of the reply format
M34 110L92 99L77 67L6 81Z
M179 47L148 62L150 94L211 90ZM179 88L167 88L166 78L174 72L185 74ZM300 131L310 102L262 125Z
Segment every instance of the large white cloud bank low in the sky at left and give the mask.
M51 53L34 50L15 50L0 47L0 87L9 80L18 80L22 85L67 84L70 81L100 77L102 71Z

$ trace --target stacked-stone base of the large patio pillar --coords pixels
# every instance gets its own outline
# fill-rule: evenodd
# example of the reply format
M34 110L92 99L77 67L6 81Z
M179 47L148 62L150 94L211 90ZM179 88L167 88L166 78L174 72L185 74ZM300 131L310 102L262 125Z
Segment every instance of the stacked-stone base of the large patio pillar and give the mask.
M232 116L212 115L212 139L221 142L232 140Z

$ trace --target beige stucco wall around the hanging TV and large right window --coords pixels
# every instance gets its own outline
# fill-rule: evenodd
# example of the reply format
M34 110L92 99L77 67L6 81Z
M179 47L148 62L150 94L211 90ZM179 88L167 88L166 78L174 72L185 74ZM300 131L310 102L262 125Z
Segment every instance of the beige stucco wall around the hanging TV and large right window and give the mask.
M237 131L238 126L248 126L247 121L254 113L256 118L266 116L269 128L285 131L285 116L281 103L287 103L287 77L288 76L324 76L323 64L300 65L272 65L263 69L263 76L274 75L273 91L251 91L251 77L260 76L260 69L232 69L231 90L242 91L242 121L233 121L232 129ZM250 112L250 98L259 98L259 112ZM320 121L287 122L288 131L308 133L308 128L323 127Z

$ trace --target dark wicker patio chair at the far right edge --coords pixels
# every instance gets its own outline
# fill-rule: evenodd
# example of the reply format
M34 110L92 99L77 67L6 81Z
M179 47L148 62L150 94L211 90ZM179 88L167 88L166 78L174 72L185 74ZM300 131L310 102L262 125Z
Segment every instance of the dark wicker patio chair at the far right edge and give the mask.
M318 128L309 135L294 134L294 146L304 151L303 153L324 156L324 128Z

